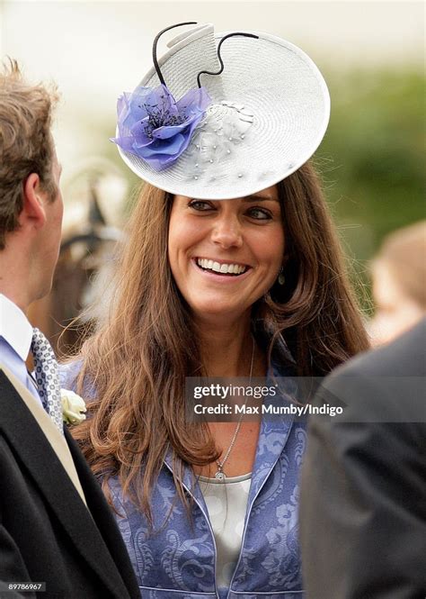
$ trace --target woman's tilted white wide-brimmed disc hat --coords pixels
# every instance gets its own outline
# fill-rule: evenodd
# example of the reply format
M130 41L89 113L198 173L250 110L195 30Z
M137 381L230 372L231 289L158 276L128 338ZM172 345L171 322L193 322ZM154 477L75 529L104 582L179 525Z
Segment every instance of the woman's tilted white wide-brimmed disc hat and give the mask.
M222 72L200 74L220 70L219 44ZM133 153L122 119L113 141L138 177L174 195L231 199L275 185L314 154L329 122L330 95L304 51L268 33L215 33L212 24L194 27L168 45L158 59L166 90L179 102L197 89L199 77L210 101L207 107L205 97L198 103L202 115L186 128L191 139L182 141L185 150L160 169ZM151 68L138 90L160 86L158 68ZM121 103L119 119L125 109ZM179 135L185 123L175 128ZM120 134L126 143L120 144Z

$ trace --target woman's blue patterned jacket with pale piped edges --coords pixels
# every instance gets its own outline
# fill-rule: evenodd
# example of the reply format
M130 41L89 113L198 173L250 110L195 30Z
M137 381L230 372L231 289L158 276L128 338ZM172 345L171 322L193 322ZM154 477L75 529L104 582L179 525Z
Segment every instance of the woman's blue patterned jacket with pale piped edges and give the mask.
M152 496L154 535L148 535L145 517L123 497L117 478L111 478L111 495L120 513L117 522L142 597L303 599L297 509L298 473L305 448L304 422L293 422L290 416L262 417L242 548L229 588L216 585L216 545L200 486L196 484L191 494L191 528L176 497L171 455L164 460ZM190 494L189 468L182 482Z

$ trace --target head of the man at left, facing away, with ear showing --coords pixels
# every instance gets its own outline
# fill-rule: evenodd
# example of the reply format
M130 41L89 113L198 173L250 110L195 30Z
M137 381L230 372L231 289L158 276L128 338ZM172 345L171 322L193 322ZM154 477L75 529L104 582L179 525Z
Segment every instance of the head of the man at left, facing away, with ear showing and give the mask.
M25 83L12 60L0 73L0 283L19 287L12 295L21 297L25 284L22 304L49 293L58 260L63 206L50 132L57 99Z

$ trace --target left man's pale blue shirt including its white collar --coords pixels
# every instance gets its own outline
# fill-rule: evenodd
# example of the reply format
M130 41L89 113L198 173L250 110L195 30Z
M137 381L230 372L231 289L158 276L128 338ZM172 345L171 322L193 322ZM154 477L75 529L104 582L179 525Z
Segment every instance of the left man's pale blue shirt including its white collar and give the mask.
M25 364L30 353L31 340L31 322L21 308L0 294L0 363L13 372L42 406L37 387Z

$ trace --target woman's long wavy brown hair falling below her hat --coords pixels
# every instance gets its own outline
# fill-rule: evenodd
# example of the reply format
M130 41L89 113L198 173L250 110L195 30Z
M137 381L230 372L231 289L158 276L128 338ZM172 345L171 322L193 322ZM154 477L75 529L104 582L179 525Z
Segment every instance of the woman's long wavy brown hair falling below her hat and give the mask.
M320 377L367 349L368 340L312 166L298 169L278 191L286 281L253 306L253 330L270 360L284 341L297 374ZM191 311L167 259L172 204L170 195L143 187L120 256L115 295L81 349L77 379L78 392L90 399L87 420L75 428L85 458L105 495L110 498L110 476L119 476L123 493L150 523L150 496L168 449L187 506L184 465L205 466L220 455L208 426L185 419L185 377L204 369Z

